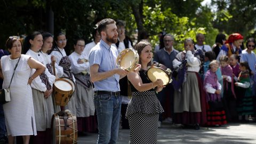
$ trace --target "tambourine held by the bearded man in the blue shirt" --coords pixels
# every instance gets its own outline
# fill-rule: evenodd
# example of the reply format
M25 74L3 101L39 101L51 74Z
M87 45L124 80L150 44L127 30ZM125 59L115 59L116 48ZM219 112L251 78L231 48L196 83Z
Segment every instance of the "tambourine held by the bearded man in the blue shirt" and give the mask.
M139 54L137 51L125 49L120 52L116 58L116 65L118 67L124 67L127 71L133 71L139 63Z

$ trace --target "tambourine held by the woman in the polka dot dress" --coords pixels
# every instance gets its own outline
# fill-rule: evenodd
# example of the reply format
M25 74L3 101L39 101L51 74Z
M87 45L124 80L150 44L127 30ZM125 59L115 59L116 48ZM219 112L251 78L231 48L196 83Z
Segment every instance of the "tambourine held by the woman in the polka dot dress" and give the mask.
M156 82L156 79L162 79L163 85L172 82L172 70L161 63L153 64L153 66L148 69L147 75L151 82Z

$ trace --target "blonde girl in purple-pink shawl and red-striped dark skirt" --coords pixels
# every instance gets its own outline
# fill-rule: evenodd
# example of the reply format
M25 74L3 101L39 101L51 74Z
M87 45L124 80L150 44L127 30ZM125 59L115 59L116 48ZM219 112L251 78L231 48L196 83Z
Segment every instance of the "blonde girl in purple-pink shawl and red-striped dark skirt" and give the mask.
M223 110L220 97L221 84L218 82L216 74L219 68L217 60L210 62L210 69L206 71L204 78L204 89L206 91L207 108L207 125L227 124L225 111Z

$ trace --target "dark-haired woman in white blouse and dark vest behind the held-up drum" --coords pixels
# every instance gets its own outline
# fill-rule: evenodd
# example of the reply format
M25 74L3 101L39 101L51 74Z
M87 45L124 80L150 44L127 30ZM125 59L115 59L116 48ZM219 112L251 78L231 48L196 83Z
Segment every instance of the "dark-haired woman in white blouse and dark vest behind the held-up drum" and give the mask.
M52 49L50 55L54 55L56 58L56 63L63 68L63 75L60 77L67 77L75 82L75 77L71 70L71 60L68 58L66 54L65 47L67 45L66 35L60 31L56 35L54 35L55 46ZM76 102L75 98L72 96L66 106L63 107L62 110L69 109L71 114L76 115Z

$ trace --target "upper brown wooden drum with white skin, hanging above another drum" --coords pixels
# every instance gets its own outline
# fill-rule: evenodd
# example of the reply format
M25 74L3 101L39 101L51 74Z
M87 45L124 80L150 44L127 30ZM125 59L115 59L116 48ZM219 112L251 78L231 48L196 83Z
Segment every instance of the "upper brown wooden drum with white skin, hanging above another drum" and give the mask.
M58 106L66 106L72 97L73 84L65 78L59 78L53 83L53 95L55 104Z

